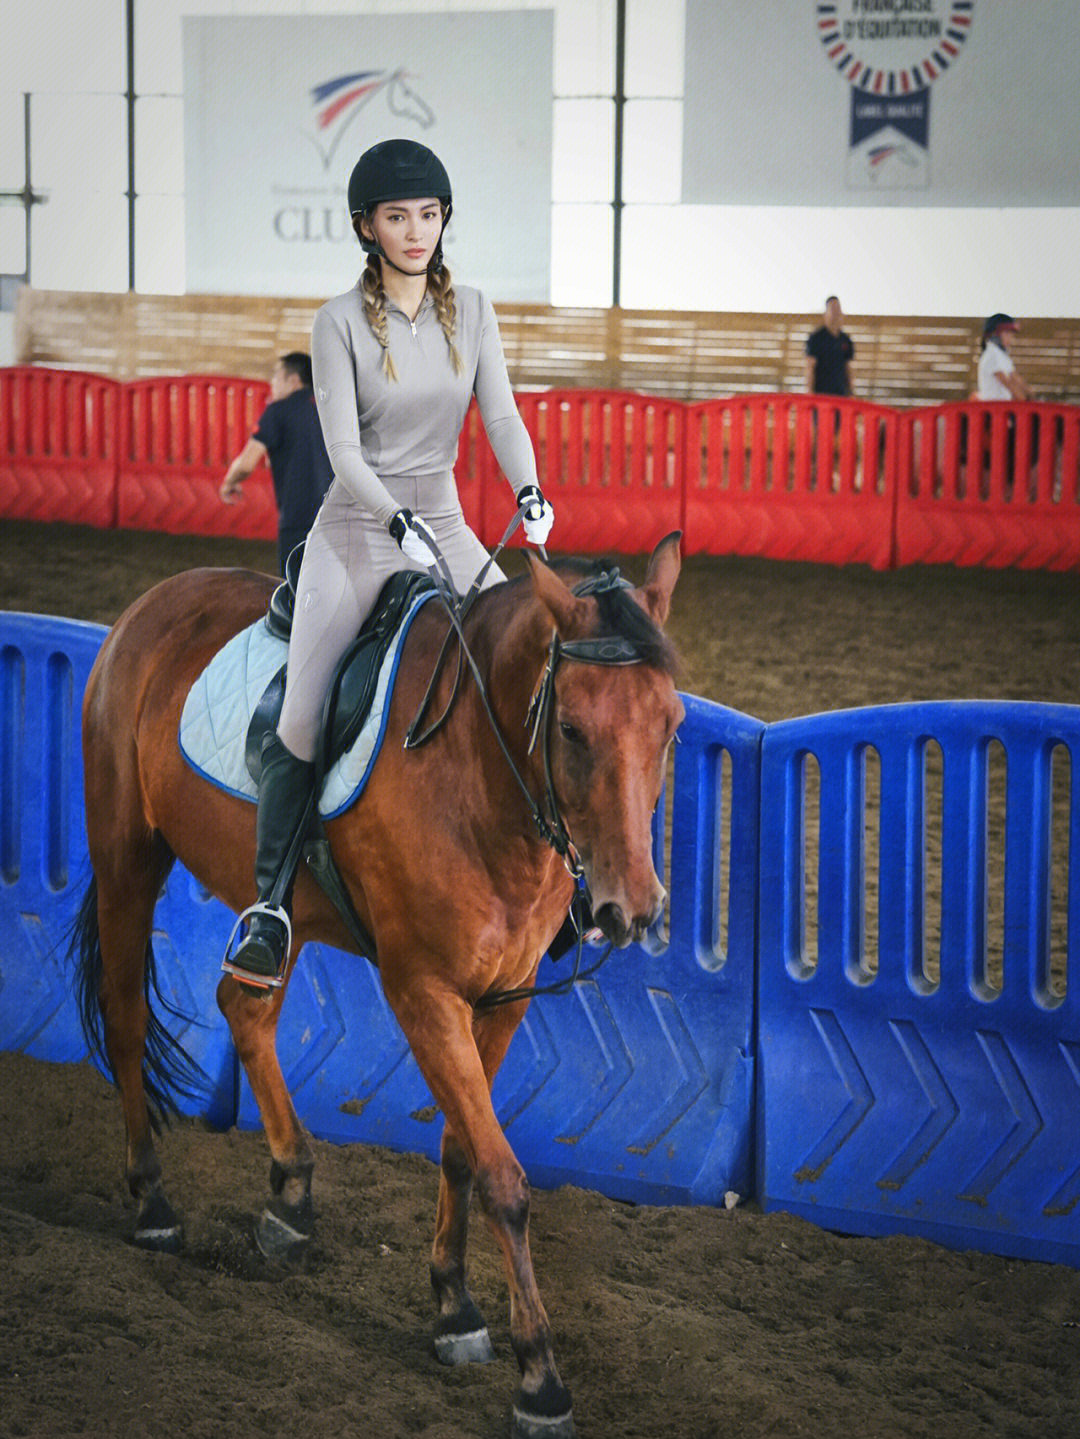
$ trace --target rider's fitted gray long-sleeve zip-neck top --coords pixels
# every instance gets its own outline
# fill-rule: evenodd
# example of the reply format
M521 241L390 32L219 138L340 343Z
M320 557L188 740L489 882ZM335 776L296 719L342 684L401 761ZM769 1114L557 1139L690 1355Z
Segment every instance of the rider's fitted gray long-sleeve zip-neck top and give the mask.
M476 401L499 468L513 486L536 484L536 456L513 403L499 325L490 301L456 285L454 374L434 301L424 295L416 321L387 302L390 353L397 380L383 370L383 348L364 314L360 286L315 315L311 360L315 401L335 476L383 524L398 505L383 476L423 476L453 469L457 440Z

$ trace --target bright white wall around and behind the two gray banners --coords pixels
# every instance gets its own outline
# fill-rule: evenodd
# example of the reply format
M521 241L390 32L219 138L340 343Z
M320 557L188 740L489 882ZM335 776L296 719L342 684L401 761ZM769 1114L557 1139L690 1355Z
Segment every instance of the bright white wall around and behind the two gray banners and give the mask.
M138 288L184 289L183 14L521 7L555 12L551 299L610 304L614 0L138 0ZM683 0L628 0L627 9L623 305L805 312L837 292L853 315L995 309L1080 315L1074 259L1080 204L1063 210L680 204ZM30 17L4 39L0 189L23 181L20 94L29 89L36 96L33 178L49 191L33 219L33 283L124 289L122 3L81 0L72 7L70 0L35 0ZM1022 83L1020 58L1017 72ZM748 104L758 83L748 78ZM13 212L0 210L0 271L20 271L23 263L22 223L12 220ZM512 243L512 216L492 223L506 223Z

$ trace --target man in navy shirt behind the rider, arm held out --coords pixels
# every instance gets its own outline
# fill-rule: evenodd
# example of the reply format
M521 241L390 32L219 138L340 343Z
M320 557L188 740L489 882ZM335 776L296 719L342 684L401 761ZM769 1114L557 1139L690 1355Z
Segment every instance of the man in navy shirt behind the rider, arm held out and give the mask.
M265 456L278 502L278 567L285 574L289 551L311 530L334 478L315 409L311 357L303 351L282 355L273 367L270 403L221 482L227 505L237 502L240 485Z

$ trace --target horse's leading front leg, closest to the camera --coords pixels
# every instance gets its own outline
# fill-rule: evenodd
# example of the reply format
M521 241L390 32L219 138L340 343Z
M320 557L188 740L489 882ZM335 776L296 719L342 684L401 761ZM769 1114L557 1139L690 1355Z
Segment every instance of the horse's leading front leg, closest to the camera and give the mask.
M385 976L393 973L384 957ZM513 1432L519 1439L567 1439L574 1433L571 1397L559 1377L551 1324L536 1286L529 1253L529 1183L492 1108L489 1079L473 1033L473 1012L460 996L436 996L430 989L387 999L413 1049L420 1072L446 1115L446 1125L473 1176L485 1217L502 1250L511 1292L511 1343L521 1368L513 1400ZM513 1027L511 1026L511 1033ZM509 1043L509 1038L506 1038ZM498 1045L493 1045L498 1050ZM503 1045L505 1052L505 1045ZM465 1170L454 1163L440 1179L440 1233L436 1256L465 1255ZM443 1187L446 1186L446 1187ZM460 1248L459 1248L460 1246ZM453 1286L449 1291L453 1294ZM467 1291L465 1291L467 1292Z

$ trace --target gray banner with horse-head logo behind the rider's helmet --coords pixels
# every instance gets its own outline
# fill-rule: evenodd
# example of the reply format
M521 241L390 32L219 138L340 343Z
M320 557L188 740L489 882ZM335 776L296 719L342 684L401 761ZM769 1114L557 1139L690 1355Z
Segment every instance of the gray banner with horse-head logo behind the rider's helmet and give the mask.
M186 17L187 289L347 289L349 171L406 137L450 173L453 272L546 302L552 36L551 10Z

